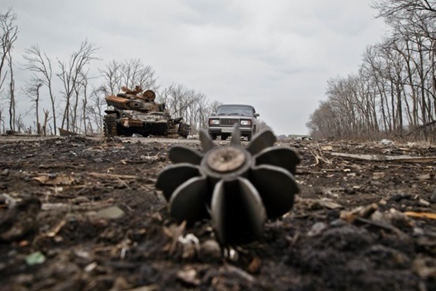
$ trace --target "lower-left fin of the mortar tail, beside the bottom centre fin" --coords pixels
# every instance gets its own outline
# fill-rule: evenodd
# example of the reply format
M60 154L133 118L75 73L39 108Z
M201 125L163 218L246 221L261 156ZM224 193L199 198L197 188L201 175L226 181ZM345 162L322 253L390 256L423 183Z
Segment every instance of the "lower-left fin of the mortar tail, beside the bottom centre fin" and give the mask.
M179 223L186 220L192 224L209 218L207 205L211 195L206 176L189 179L174 190L169 200L169 212Z

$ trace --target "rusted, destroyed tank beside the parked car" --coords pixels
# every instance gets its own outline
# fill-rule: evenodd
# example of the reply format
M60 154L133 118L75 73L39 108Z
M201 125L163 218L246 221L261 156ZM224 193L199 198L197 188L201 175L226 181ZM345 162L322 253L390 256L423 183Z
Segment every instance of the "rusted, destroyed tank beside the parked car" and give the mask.
M155 103L156 94L152 90L142 91L122 87L122 93L106 96L105 100L113 109L105 110L103 130L105 136L165 136L186 138L190 126L181 117L173 119L165 103Z

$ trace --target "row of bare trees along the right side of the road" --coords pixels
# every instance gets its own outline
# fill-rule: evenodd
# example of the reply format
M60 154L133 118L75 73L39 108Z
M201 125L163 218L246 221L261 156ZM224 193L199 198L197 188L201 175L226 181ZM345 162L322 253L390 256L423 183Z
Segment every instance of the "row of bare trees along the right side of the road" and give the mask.
M390 27L359 70L327 82L307 122L315 138L436 139L436 1L378 0Z

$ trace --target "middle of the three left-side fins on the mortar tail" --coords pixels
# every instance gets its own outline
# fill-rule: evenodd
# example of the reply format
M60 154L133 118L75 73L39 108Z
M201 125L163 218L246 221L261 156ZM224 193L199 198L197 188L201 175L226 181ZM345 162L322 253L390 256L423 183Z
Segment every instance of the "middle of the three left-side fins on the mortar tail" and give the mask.
M169 200L177 187L195 176L200 176L197 166L188 163L171 164L160 172L156 188L161 189L165 198Z

